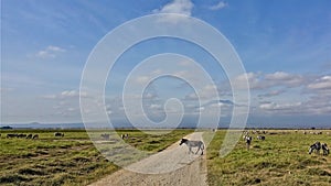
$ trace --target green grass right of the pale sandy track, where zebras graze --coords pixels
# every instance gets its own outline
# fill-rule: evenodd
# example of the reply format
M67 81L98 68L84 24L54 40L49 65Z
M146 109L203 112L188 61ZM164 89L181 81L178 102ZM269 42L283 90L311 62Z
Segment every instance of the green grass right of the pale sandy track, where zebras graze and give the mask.
M277 134L266 134L266 141L254 139L249 151L241 139L228 155L220 157L218 151L226 131L217 131L207 147L209 185L331 184L331 155L308 154L309 145L316 141L330 145L330 135L305 135L300 131L273 132Z

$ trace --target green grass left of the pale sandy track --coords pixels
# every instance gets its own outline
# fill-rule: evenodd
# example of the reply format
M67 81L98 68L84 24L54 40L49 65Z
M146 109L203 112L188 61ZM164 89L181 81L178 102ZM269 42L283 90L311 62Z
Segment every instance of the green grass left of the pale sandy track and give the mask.
M0 131L0 185L87 185L120 168L102 155L84 130L60 132L64 138L55 138L52 130ZM116 132L129 133L126 143L153 153L193 131L174 130L162 135L159 131ZM38 133L39 139L6 139L7 133Z

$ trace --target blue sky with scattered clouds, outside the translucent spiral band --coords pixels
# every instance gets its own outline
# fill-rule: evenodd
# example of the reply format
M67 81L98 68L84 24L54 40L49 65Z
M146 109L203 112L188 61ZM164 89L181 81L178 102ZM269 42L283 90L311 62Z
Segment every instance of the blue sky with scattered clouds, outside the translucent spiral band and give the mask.
M1 122L81 122L81 77L98 41L135 18L182 13L217 29L242 58L250 86L249 123L328 124L330 7L329 0L2 0ZM204 101L210 103L199 106L192 87L164 77L146 89L148 116L161 121L167 99L178 98L184 105L186 122L196 119L196 109L213 107L222 107L221 122L228 121L233 99L222 67L200 47L175 39L139 43L116 62L105 88L110 119L126 121L120 100L125 79L141 61L160 53L178 53L199 62L215 81L222 101L215 105L206 94ZM158 69L137 80L143 81ZM173 70L188 73L180 65ZM205 92L209 88L205 86Z

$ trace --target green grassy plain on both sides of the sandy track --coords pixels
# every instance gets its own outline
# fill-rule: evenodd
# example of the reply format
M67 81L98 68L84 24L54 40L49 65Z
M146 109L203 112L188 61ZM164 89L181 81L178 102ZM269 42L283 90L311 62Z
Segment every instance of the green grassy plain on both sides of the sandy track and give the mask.
M120 167L107 161L84 130L2 130L0 139L0 185L88 185L114 174ZM307 134L303 134L303 131ZM322 134L310 132L321 131ZM128 133L126 143L158 153L193 130L167 134ZM205 133L211 132L205 131ZM239 139L225 157L218 152L225 130L218 130L206 149L206 184L218 185L330 185L331 155L308 154L316 141L331 144L331 130L267 130L265 141L254 140L250 149ZM327 134L329 132L329 134ZM8 133L39 134L39 139L7 139ZM100 131L102 133L107 133ZM111 136L110 136L111 139ZM190 177L188 177L189 179Z

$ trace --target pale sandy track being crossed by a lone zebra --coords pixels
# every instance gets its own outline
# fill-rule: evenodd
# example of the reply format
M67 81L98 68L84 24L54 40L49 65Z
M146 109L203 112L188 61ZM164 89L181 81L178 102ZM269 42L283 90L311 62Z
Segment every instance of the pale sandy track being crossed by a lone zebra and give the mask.
M202 140L202 132L192 133L186 138ZM106 176L90 186L110 185L206 186L205 156L188 154L188 147L185 145L180 146L177 142L167 150Z

